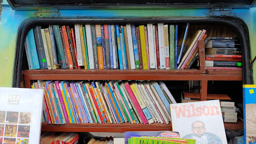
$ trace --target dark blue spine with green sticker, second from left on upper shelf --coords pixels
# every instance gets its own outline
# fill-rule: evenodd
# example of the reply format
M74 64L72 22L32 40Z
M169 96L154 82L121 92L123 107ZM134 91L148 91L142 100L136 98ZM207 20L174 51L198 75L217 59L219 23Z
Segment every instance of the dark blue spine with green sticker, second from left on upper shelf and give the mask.
M42 34L40 29L41 29L41 26L36 26L33 28L33 32L34 32L36 51L38 55L40 68L43 69L43 68L47 68L47 62L46 62L46 56L43 48Z

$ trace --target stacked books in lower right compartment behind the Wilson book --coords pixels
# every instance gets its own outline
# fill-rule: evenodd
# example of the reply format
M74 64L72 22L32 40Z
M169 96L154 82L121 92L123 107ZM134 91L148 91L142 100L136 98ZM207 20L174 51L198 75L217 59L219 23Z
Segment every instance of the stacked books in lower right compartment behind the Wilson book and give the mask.
M237 122L237 112L234 101L227 94L207 94L207 100L219 99L222 118L224 122ZM181 102L194 102L200 100L200 93L183 92Z

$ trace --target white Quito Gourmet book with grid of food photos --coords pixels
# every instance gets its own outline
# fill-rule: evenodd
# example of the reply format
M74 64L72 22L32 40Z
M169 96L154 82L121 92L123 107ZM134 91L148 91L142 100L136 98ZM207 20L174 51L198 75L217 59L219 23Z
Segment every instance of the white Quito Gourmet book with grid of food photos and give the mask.
M43 89L0 87L0 143L38 143Z

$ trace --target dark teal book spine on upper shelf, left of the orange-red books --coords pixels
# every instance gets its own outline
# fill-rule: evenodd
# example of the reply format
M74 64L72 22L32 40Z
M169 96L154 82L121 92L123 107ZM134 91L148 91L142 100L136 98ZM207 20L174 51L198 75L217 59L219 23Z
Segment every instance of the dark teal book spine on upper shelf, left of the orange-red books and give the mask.
M54 37L55 37L55 40L56 40L60 66L61 66L62 69L66 69L67 68L66 67L66 60L65 60L65 56L64 56L63 45L61 43L61 38L60 38L60 33L59 33L59 26L58 25L52 25L52 28L53 28L53 33L54 33Z

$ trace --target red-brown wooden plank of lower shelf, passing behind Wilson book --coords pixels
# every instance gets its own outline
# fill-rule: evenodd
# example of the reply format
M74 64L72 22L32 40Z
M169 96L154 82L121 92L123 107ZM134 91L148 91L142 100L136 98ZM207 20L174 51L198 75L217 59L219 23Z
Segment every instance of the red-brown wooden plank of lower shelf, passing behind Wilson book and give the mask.
M238 130L243 128L243 122L224 123L226 129ZM104 124L104 123L80 123L80 124L48 124L43 122L41 131L70 131L70 132L125 132L125 131L158 131L171 130L171 123L151 123L151 124Z

